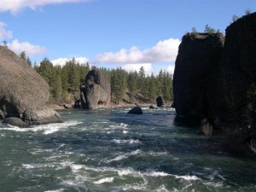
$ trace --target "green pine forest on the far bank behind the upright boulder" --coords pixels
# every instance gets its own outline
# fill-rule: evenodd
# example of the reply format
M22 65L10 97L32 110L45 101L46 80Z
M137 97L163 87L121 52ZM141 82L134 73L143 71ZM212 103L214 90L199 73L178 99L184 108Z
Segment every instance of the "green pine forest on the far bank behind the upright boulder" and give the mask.
M93 68L90 64L78 61L67 61L64 66L54 66L44 58L34 69L49 84L49 102L73 102L73 96L79 96L79 87L84 84L86 74ZM111 83L111 101L119 102L155 102L157 96L163 96L166 102L172 102L172 74L165 70L155 75L146 75L143 67L139 72L128 72L119 67L116 69L100 68L107 73Z

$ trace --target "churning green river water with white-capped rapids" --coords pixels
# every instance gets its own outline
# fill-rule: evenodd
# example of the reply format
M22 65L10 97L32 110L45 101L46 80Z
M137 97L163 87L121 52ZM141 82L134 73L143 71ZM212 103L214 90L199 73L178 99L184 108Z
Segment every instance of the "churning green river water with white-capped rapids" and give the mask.
M256 191L256 162L225 153L172 108L61 110L62 124L0 125L0 191Z

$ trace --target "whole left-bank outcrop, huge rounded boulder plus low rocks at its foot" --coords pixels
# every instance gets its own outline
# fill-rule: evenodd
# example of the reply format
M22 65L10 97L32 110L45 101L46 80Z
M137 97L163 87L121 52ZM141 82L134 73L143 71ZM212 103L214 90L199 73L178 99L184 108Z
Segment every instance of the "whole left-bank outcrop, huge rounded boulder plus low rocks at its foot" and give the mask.
M61 122L59 113L45 107L49 85L4 46L0 46L0 82L0 119L4 119L3 123L26 127Z

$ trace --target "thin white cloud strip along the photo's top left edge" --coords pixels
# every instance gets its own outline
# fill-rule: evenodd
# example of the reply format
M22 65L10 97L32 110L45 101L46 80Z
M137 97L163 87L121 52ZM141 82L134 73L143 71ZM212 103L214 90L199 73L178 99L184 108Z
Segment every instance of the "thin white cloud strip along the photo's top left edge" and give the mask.
M17 14L21 9L37 9L38 7L55 3L79 3L90 2L91 0L1 0L0 12L10 11Z

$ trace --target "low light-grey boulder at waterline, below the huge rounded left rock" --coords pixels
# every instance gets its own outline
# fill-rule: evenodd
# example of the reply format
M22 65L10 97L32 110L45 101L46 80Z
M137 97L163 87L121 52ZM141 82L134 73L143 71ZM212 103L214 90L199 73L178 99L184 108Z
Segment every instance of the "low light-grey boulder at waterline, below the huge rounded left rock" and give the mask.
M23 113L22 120L28 125L62 123L61 115L49 108L33 108Z

